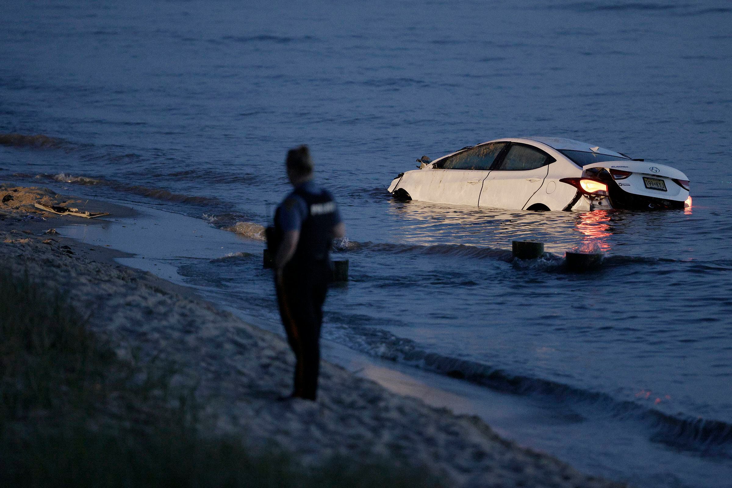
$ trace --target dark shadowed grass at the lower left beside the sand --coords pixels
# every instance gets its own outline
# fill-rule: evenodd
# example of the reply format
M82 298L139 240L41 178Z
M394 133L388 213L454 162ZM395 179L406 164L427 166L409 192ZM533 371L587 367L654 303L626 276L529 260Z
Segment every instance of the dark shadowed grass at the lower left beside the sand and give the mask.
M203 435L195 388L173 386L171 364L121 359L87 322L0 269L0 486L439 486L384 459L305 468L277 446Z

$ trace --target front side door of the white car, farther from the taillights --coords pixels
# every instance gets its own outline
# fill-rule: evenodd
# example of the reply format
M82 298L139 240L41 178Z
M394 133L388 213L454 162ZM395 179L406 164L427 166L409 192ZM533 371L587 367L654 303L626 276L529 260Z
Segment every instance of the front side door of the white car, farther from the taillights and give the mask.
M430 170L428 201L477 206L483 181L505 146L481 144L436 161Z

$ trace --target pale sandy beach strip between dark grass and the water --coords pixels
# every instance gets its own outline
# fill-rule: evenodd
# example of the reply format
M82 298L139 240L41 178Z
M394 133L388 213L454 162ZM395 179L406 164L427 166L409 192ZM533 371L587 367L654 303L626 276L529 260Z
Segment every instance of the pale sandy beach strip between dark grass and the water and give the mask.
M251 448L276 443L306 464L343 454L376 455L429 467L455 487L619 487L578 472L548 454L500 438L474 416L458 416L402 397L324 362L317 402L277 402L291 387L294 358L283 338L217 309L190 288L122 266L122 252L63 238L49 230L78 222L34 208L74 206L113 215L124 206L81 201L52 189L0 190L3 266L68 293L91 312L89 324L118 356L139 351L179 365L193 378L215 434L241 436Z

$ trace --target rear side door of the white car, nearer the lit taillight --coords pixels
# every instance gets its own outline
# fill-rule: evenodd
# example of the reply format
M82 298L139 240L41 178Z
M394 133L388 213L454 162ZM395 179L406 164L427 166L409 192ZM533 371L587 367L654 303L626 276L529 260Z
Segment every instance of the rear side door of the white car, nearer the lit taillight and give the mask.
M541 188L554 158L529 144L511 143L483 181L478 206L523 209Z

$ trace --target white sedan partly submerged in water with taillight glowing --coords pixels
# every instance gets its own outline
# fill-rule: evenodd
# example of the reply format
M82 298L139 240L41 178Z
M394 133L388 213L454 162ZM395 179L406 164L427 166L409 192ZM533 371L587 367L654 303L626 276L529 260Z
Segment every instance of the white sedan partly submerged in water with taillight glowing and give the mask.
M681 171L571 139L496 139L417 162L389 185L396 198L526 210L691 206Z

